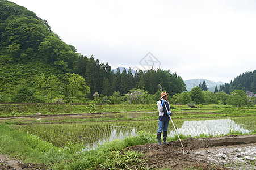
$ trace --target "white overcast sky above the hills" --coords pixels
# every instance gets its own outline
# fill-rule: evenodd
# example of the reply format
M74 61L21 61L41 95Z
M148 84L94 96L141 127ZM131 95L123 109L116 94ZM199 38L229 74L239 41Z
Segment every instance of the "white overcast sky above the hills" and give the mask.
M256 69L256 1L11 0L112 69L170 69L229 83Z

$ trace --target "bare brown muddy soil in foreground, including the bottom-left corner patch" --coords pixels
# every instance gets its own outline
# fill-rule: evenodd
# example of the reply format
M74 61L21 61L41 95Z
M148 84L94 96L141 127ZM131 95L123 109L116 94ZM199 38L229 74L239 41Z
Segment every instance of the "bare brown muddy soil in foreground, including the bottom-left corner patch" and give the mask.
M170 141L169 145L157 143L131 146L125 150L145 155L145 162L130 167L138 169L256 169L256 135L229 135L214 138L187 138ZM188 154L186 154L187 152ZM48 169L47 165L23 163L0 154L0 169Z

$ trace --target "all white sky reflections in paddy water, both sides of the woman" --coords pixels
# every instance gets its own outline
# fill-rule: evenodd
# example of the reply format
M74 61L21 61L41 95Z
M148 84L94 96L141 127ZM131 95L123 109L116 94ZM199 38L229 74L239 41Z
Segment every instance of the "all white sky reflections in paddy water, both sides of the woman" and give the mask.
M218 120L199 120L199 121L184 121L181 128L177 128L178 134L183 134L187 136L199 136L201 134L205 135L225 135L231 133L232 131L240 132L240 133L250 133L251 130L244 129L240 125L237 125L234 120L231 119L218 119ZM156 134L156 130L153 132ZM123 133L123 131L125 131ZM139 131L140 128L133 128L132 130L124 130L121 127L118 127L117 130L111 130L110 135L104 139L98 139L95 141L93 145L88 145L88 148L95 148L97 145L102 145L104 142L113 141L114 139L124 139L125 137L129 137L131 135L135 136L136 132ZM151 131L152 132L152 131ZM171 122L169 123L169 133L168 136L174 137L176 135L173 125Z

